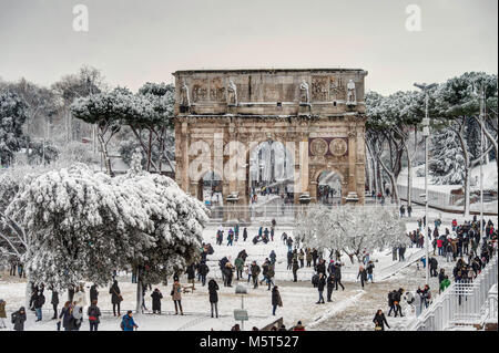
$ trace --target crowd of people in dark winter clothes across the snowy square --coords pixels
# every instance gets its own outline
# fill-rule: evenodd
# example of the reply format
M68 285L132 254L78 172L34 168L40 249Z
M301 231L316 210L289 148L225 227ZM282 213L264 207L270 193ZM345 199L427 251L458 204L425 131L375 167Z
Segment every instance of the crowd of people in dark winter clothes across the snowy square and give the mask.
M405 211L405 210L404 210ZM409 210L408 210L409 211ZM403 209L400 209L400 216L404 217ZM410 214L409 214L410 217ZM418 228L415 231L409 232L407 236L410 238L411 243L409 247L422 248L425 246L425 237L422 236L422 229L426 226L426 219L418 221ZM215 241L218 246L224 246L226 240L226 247L233 247L234 242L246 242L248 246L257 246L259 242L268 243L276 241L276 221L272 220L269 227L259 227L257 233L248 240L248 230L243 228L240 238L240 226L235 225L227 230L227 236L224 236L225 230L223 227L216 231ZM489 262L497 249L497 230L493 222L481 224L475 219L472 221L465 221L458 225L456 220L452 220L448 228L441 226L440 219L437 219L434 224L434 229L428 227L428 239L432 246L432 255L427 260L421 258L422 267L429 267L430 276L438 278L438 292L442 293L450 284L451 279L456 283L472 281L480 271ZM281 236L281 242L286 247L286 269L292 272L293 282L298 281L298 271L304 268L313 270L312 285L317 289L317 302L316 304L324 304L332 302L333 292L336 290L345 290L345 285L342 283L342 267L344 263L340 261L339 251L330 251L329 258L325 258L322 251L315 248L303 247L299 248L294 239L283 232ZM217 250L221 251L221 250ZM405 261L406 247L404 245L395 245L393 247L393 260ZM173 283L171 284L171 299L173 301L174 314L183 315L184 310L182 307L182 297L184 293L193 292L195 290L196 282L202 287L207 285L207 302L210 303L211 318L218 318L218 291L220 284L214 277L208 278L211 271L207 263L207 257L214 255L214 249L211 243L202 243L200 249L200 259L195 263L187 266L185 273L175 273L173 276ZM268 256L258 263L256 260L248 259L248 255L245 249L237 253L237 257L232 261L231 256L222 256L218 260L218 268L222 274L222 283L224 287L233 287L234 281L245 281L252 283L253 289L257 289L259 285L266 285L269 292L269 308L272 315L276 315L278 308L283 307L283 300L281 297L281 289L276 285L276 263L277 255L272 250ZM284 260L284 259L283 259ZM455 262L451 274L446 273L446 269L439 267L439 261L442 263ZM357 281L360 282L361 289L367 283L374 283L374 269L375 262L370 259L369 253L364 251L360 260L360 264L357 272ZM448 266L446 266L448 268ZM16 271L14 271L16 269ZM11 263L10 274L20 276L18 272L19 263ZM213 268L212 268L213 271ZM181 277L186 277L189 285L181 284ZM128 311L125 315L121 316L121 304L123 301L122 292L118 280L116 273L113 276L113 282L109 288L109 294L111 297L112 312L114 316L122 318L121 329L124 331L133 331L139 326L133 319L131 311ZM132 282L136 283L138 278L132 272ZM167 283L167 282L166 282ZM86 292L83 284L74 285L74 288L68 291L68 301L64 302L61 310L59 310L60 298L59 293L52 287L49 287L51 291L50 304L52 305L53 316L52 320L57 322L58 330L64 331L79 331L83 323L84 313L88 316L89 330L98 331L100 324L100 318L102 311L99 308L99 290L96 284L90 287L90 301L86 301ZM147 290L151 291L147 295ZM326 291L326 293L324 293ZM45 288L43 284L32 285L31 297L28 310L35 313L37 322L42 321L42 308L45 305ZM146 298L151 298L152 314L162 314L162 301L164 300L163 293L159 288L152 289L150 283L143 283L143 312L147 311ZM422 288L418 288L415 291L405 291L403 288L393 290L388 293L388 316L394 313L394 316L404 316L401 302L406 300L407 303L414 307L416 315L419 315L425 308L428 308L431 303L432 293L429 284L427 283ZM90 303L90 305L89 305ZM0 300L0 328L6 326L6 301ZM86 309L86 310L84 310ZM163 311L164 312L164 311ZM11 322L13 329L22 331L24 322L27 320L27 313L24 308L20 308L11 315ZM375 323L375 330L385 330L389 328L387 319L383 313L383 310L376 312L376 316L373 320ZM295 326L303 326L301 323ZM282 328L276 328L279 330ZM235 330L236 331L236 330Z

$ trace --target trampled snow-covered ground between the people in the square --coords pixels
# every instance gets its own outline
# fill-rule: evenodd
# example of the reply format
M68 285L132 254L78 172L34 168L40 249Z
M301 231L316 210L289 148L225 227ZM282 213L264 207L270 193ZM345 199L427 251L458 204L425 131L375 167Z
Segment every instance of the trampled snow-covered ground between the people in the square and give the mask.
M417 227L416 220L422 215L422 210L415 209L415 217L407 219L407 229L414 230ZM419 215L421 214L421 215ZM450 224L455 215L430 212L430 219L441 217L444 227ZM459 218L458 218L459 219ZM459 219L460 220L460 219ZM497 217L493 219L497 224ZM212 319L210 316L210 302L206 287L202 287L196 282L196 290L194 293L184 293L182 304L184 308L184 316L174 315L174 307L171 300L171 282L169 285L153 285L159 288L164 299L162 300L162 308L164 312L161 315L141 314L136 316L136 322L140 325L139 330L230 330L236 323L233 316L233 310L241 308L241 297L235 294L235 285L237 283L247 285L247 274L244 273L242 281L236 281L234 278L233 287L225 288L221 281L221 273L217 261L224 256L230 257L234 261L237 253L246 249L248 258L246 263L256 260L262 264L263 260L268 257L274 249L277 255L276 266L276 284L279 287L279 292L283 300L283 308L277 309L276 316L272 315L272 294L265 284L253 289L248 287L248 294L244 298L244 307L248 311L249 321L245 322L245 330L251 330L252 326L263 328L274 320L283 316L286 326L294 325L298 320L307 326L307 330L373 330L373 316L377 309L387 310L386 295L389 290L398 289L400 287L406 290L415 290L417 285L422 285L425 281L425 273L422 270L416 271L416 266L410 264L410 261L398 262L391 260L391 251L376 251L370 255L375 262L375 283L369 283L361 290L360 283L356 281L358 263L352 264L348 257L343 257L345 267L343 269L343 283L345 290L334 291L333 302L326 304L316 304L318 299L317 289L310 284L312 269L303 268L298 270L298 282L292 282L292 272L286 270L286 251L287 247L281 241L281 235L286 231L293 236L291 227L279 227L275 233L274 241L267 245L253 245L251 240L257 233L257 227L248 228L248 239L246 242L242 241L243 228L240 230L240 239L232 247L226 246L226 240L222 246L215 245L215 233L218 227L208 227L204 231L204 240L211 242L215 252L207 257L210 264L208 278L213 277L217 280L221 288L218 292L218 312L220 319ZM227 230L227 228L225 228ZM226 231L225 231L226 233ZM419 257L418 249L408 248L406 259L417 259ZM326 253L326 257L328 253ZM445 268L454 266L452 262L445 263L445 260L439 258L439 263ZM130 273L122 273L119 277L120 288L123 293L124 301L122 303L122 313L125 310L135 309L135 292L136 284L131 283ZM185 277L181 279L184 285L187 285ZM436 288L436 279L431 279L430 287ZM90 287L90 283L86 283ZM13 279L6 273L0 278L0 299L7 301L8 314L24 303L26 282L23 280ZM109 294L109 288L100 288L99 307L103 311L101 330L120 330L120 319L112 315L112 305ZM28 311L27 330L55 330L55 320L51 320L52 310L50 305L50 291L45 291L47 303L44 305L44 318L42 322L34 322L34 314ZM151 309L151 291L146 292L146 307ZM60 294L61 302L65 300L65 293ZM408 316L390 319L389 323L395 330L403 330L406 320L411 318L410 309L404 308L404 312ZM414 315L414 314L413 314ZM10 324L9 324L10 325ZM88 330L88 322L85 321L81 330Z

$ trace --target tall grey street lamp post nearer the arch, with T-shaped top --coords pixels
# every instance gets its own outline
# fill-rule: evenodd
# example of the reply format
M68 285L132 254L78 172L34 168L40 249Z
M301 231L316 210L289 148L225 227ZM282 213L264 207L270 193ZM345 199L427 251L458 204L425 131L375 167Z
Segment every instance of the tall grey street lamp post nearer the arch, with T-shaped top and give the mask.
M422 90L425 93L425 118L422 120L422 136L425 137L425 221L424 221L424 233L425 237L425 258L426 258L426 284L429 283L429 235L428 235L428 137L430 135L429 132L429 114L428 114L428 91L436 87L437 84L414 84L416 87Z

